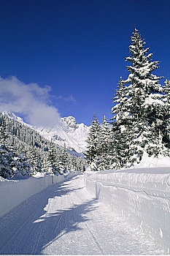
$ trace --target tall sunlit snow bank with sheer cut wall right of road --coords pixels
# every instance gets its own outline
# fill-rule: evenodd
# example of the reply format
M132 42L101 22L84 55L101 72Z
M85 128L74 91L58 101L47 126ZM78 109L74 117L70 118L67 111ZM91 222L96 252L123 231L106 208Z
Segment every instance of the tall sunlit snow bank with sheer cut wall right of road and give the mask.
M170 167L88 173L86 187L170 249Z

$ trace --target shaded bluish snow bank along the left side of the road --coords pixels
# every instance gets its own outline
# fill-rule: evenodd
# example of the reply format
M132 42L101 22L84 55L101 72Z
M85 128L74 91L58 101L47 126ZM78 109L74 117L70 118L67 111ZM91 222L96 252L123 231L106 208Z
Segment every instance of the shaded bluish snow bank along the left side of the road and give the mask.
M21 179L18 176L14 180L7 180L0 177L0 217L28 199L28 197L35 195L52 184L72 178L79 173L77 171L58 176L37 173L34 177Z

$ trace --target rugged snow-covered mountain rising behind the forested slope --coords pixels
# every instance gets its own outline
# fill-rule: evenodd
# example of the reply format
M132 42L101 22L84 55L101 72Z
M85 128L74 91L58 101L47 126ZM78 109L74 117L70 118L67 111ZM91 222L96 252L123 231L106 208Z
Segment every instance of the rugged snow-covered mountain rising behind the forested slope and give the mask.
M56 127L34 127L30 124L26 124L23 118L15 116L14 113L4 112L10 118L14 118L16 121L36 130L40 135L47 140L53 139L53 142L59 146L63 146L66 143L66 148L70 151L74 150L77 153L82 153L86 149L86 140L88 138L89 128L85 124L77 124L76 119L73 116L61 118L61 123Z

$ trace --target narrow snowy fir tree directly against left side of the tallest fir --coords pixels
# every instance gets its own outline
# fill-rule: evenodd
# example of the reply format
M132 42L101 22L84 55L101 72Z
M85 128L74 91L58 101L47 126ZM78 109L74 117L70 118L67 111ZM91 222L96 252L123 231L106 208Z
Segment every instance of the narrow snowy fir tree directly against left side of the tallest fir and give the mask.
M126 165L128 158L128 145L126 143L128 132L126 127L128 124L130 109L128 108L127 95L127 87L123 83L123 79L120 78L115 97L112 98L115 106L112 108L112 114L114 116L111 118L111 120L116 119L116 121L112 123L112 129L109 134L110 166L115 169L119 169L120 167Z

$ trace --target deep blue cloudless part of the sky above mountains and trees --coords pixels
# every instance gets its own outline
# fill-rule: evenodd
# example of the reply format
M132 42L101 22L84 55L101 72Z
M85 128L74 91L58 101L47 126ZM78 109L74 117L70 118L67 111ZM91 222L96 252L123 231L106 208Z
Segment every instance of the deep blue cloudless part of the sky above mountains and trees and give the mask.
M94 112L100 121L111 118L135 25L161 61L155 74L170 77L169 10L169 0L0 1L0 86L10 76L27 87L36 83L44 107L78 123L89 125Z

